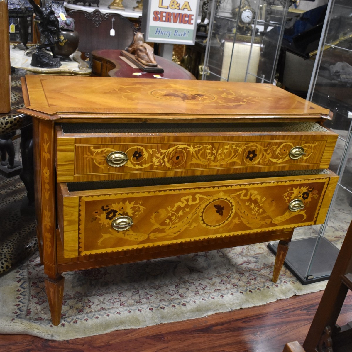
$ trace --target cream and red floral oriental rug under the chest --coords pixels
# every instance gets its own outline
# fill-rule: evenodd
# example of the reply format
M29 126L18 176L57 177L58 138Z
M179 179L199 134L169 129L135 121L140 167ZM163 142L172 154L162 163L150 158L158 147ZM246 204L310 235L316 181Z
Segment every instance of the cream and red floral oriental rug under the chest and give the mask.
M275 256L265 243L65 272L61 323L54 326L36 250L35 222L19 212L25 194L18 176L0 179L0 255L12 251L5 266L2 260L0 333L68 340L218 312L236 314L240 308L326 285L302 285L285 267L277 283L271 282ZM13 250L20 246L16 260Z

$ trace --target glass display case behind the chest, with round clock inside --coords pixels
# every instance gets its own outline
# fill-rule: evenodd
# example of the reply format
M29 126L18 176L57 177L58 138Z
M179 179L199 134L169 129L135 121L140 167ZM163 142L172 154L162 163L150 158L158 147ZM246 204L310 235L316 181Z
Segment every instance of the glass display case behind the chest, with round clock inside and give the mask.
M210 3L203 80L273 83L291 0Z

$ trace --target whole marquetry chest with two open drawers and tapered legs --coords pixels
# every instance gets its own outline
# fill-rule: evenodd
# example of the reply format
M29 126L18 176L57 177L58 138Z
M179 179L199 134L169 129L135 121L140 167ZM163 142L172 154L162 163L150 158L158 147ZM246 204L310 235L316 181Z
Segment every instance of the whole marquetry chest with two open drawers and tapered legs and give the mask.
M270 84L26 76L52 321L62 272L279 240L321 224L329 111Z

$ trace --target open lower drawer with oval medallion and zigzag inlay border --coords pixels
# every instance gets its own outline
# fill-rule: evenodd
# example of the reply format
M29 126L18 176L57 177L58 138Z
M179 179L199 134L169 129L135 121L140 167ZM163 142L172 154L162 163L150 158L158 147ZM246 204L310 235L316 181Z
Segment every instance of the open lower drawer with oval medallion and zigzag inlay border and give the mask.
M338 180L328 170L255 176L58 184L63 255L219 241L320 224Z

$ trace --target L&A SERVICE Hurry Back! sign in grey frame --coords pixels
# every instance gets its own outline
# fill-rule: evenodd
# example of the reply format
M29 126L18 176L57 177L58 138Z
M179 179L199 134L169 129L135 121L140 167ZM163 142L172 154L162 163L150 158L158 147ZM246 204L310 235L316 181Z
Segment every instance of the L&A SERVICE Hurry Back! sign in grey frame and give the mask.
M199 0L143 1L142 32L146 42L194 44Z

